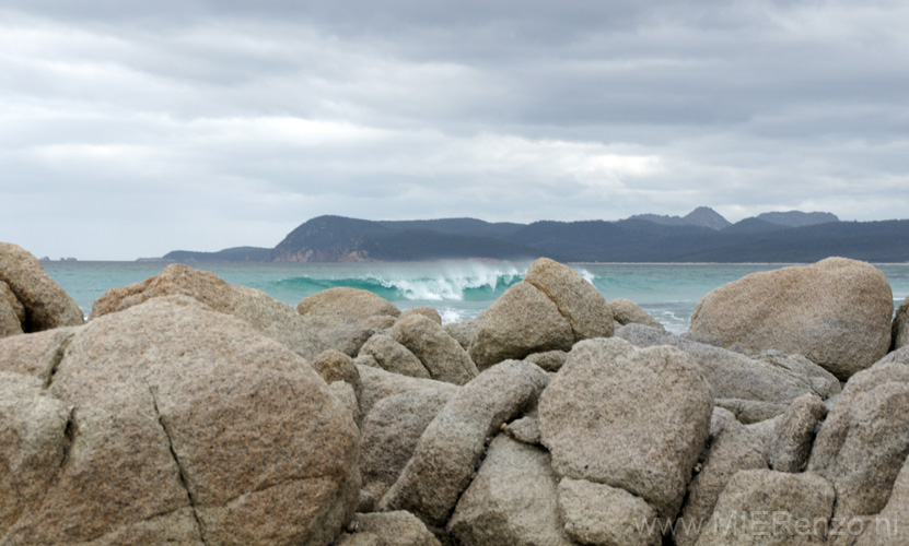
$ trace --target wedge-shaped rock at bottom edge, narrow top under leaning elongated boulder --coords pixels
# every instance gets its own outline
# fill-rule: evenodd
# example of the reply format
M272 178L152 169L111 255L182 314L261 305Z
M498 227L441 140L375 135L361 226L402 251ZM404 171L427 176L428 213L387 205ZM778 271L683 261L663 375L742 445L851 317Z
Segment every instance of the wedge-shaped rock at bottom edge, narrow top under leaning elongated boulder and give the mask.
M546 451L497 436L457 502L448 532L464 546L571 546Z

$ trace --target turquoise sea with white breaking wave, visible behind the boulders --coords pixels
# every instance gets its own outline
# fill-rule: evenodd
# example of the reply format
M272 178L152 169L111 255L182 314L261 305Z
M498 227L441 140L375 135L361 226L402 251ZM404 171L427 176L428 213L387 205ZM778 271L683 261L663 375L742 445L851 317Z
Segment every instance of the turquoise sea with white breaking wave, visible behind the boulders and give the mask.
M44 262L45 271L88 316L110 288L156 275L166 262ZM336 286L373 292L399 309L429 306L444 322L476 317L520 282L531 262L436 261L415 263L193 263L229 283L258 288L296 306ZM756 271L789 264L570 263L608 299L628 298L669 331L688 329L691 312L710 290ZM890 282L894 304L909 295L909 264L876 264Z

